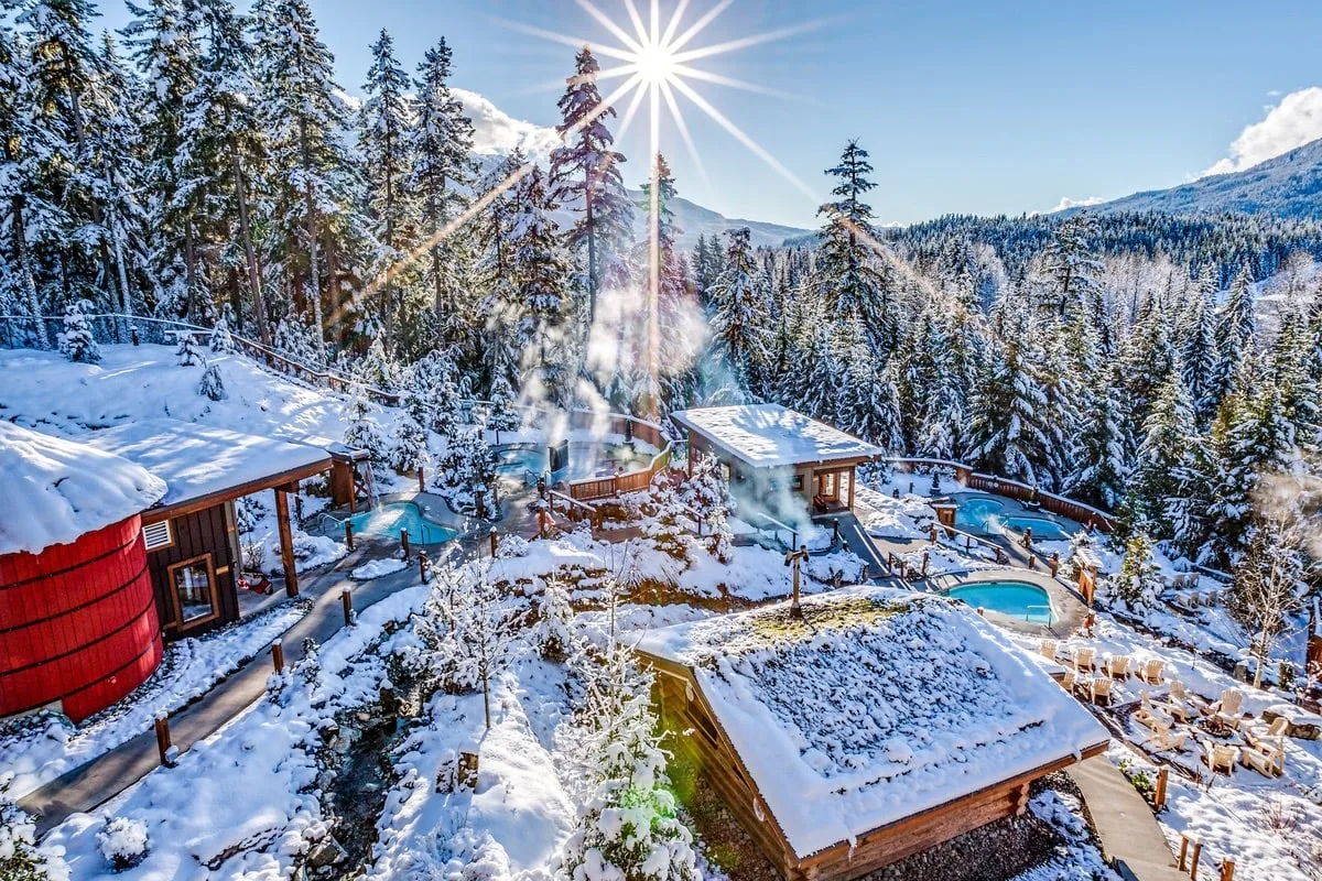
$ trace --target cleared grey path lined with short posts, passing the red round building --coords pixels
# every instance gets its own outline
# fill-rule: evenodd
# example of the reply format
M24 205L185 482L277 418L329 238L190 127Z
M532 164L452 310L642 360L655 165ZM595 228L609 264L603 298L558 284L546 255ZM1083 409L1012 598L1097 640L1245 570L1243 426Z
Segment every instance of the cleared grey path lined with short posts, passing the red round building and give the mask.
M312 597L313 606L280 637L286 663L293 663L303 655L304 638L312 637L317 642L325 642L340 631L344 626L340 592L345 585L352 588L353 608L361 612L397 590L418 584L416 567L373 581L349 581L348 573L356 565L382 556L386 556L386 549L379 543L364 542L336 568L305 579L300 596ZM173 744L182 752L209 737L264 693L270 675L270 652L259 651L249 663L217 683L202 699L171 716L169 730ZM40 815L37 832L45 833L71 814L95 810L140 781L159 763L156 736L147 730L33 790L19 803L25 811Z

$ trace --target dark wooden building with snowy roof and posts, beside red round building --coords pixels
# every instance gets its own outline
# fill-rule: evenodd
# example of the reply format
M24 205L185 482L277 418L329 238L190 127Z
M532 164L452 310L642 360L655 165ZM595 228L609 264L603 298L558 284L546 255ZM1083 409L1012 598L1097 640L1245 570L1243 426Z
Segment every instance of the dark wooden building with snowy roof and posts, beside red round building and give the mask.
M299 592L290 494L299 481L329 472L321 446L155 419L94 432L87 442L163 478L165 497L141 524L165 639L196 637L238 621L242 553L234 502L275 490L284 588Z

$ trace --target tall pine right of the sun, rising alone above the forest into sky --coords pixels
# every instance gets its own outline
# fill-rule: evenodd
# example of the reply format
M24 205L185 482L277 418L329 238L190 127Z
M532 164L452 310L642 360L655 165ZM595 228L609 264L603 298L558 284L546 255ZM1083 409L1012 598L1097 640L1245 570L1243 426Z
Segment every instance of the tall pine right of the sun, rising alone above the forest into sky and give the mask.
M817 248L817 289L832 318L854 317L863 322L873 353L886 357L899 341L899 316L890 281L878 269L873 254L873 206L865 195L876 184L873 165L858 141L849 141L839 165L826 169L834 178L834 202L817 209L825 215Z

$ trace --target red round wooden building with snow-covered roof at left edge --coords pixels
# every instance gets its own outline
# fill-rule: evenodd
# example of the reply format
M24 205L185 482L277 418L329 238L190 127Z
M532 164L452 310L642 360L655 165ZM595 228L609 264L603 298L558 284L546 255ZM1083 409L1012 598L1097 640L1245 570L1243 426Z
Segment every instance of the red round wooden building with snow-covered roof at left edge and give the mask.
M19 431L0 431L0 716L57 704L77 722L160 663L137 511L164 483L122 458Z

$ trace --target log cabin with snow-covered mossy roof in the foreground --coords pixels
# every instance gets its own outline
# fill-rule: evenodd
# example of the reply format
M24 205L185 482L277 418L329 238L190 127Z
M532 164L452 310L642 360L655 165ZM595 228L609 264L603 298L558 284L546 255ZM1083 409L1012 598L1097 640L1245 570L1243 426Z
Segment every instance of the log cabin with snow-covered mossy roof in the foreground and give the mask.
M1027 808L1107 730L970 610L857 586L649 631L669 748L788 881L858 878Z

